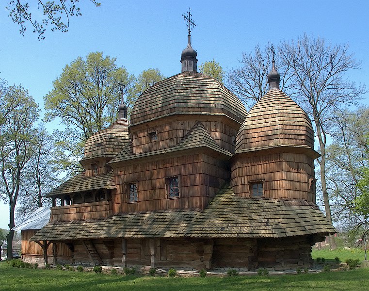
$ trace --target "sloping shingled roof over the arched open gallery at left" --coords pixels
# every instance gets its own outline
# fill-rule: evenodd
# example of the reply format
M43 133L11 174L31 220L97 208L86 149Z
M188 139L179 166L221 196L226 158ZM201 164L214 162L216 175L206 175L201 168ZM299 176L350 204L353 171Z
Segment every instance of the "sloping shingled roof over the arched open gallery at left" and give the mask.
M112 170L106 174L89 177L86 177L84 172L77 174L51 191L47 197L97 189L116 189L112 180Z

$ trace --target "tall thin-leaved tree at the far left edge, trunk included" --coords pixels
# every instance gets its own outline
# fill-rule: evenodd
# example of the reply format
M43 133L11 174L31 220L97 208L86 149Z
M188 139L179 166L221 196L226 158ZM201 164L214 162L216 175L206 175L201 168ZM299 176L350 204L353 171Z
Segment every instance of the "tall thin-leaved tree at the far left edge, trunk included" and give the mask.
M2 115L6 119L0 125L0 197L10 205L9 229L15 226L14 214L16 202L20 194L25 166L31 157L33 123L38 118L38 105L29 96L28 91L21 86L11 86L6 94L1 96ZM13 107L9 111L9 107ZM7 238L8 259L12 259L14 231L9 231Z

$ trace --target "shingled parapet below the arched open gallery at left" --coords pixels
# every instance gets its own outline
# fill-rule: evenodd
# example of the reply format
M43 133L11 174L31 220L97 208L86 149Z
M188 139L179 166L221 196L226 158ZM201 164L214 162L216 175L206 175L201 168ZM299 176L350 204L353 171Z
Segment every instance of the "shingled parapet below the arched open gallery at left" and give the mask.
M51 208L50 221L108 218L111 201L72 204Z

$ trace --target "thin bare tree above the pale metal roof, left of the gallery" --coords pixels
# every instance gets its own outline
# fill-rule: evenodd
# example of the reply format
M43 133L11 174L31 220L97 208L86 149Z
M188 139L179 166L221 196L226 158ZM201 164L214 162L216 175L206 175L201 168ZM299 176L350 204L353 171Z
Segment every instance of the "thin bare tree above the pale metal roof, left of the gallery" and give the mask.
M40 125L35 132L33 151L21 181L17 218L24 219L39 207L51 206L51 199L46 194L61 183L58 178L61 169L53 160L54 156L53 139L43 125Z

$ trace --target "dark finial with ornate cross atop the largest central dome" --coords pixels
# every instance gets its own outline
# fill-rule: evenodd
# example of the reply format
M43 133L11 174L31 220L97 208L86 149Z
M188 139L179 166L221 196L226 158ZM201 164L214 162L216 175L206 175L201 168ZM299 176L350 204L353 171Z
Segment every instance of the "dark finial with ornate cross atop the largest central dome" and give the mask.
M191 46L191 30L196 26L194 21L191 19L191 8L187 11L186 14L182 14L184 20L187 21L187 29L188 29L188 44L187 48L183 49L181 54L181 63L182 63L182 72L184 71L195 71L197 72L197 52ZM191 27L192 26L192 27Z

